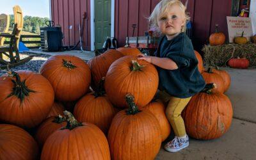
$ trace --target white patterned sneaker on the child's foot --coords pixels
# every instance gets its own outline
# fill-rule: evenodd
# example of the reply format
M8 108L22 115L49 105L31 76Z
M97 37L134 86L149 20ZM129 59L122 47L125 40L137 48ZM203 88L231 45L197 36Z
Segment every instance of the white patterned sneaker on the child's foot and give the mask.
M183 148L189 146L188 140L188 135L186 135L186 138L179 138L175 136L172 141L169 141L168 143L166 143L166 145L164 145L164 149L168 152L178 152L179 150L182 150Z

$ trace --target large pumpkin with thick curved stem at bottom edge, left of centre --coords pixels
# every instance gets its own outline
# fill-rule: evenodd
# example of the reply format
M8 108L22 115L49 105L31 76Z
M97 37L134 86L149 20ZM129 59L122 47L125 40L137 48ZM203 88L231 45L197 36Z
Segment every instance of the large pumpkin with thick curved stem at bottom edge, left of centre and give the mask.
M108 140L104 133L93 124L79 123L74 116L64 111L67 126L58 129L47 138L41 160L51 159L108 159Z

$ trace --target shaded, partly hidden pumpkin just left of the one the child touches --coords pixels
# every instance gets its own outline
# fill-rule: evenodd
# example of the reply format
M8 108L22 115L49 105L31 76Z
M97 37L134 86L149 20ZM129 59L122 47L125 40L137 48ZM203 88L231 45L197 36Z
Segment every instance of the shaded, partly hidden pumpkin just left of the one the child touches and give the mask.
M102 77L106 77L108 68L113 63L113 61L121 58L122 56L123 55L121 52L116 51L115 49L109 49L108 51L104 52L104 54L95 56L95 58L88 61L88 65L92 72L93 88L95 88L95 86L98 86Z

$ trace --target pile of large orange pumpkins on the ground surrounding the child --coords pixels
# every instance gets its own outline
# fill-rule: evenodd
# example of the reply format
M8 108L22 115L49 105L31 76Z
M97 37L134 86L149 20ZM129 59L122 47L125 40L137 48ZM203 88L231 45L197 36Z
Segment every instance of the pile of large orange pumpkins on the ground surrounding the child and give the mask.
M40 73L6 72L0 77L0 159L154 159L171 126L163 102L154 99L157 70L138 54L121 47L88 63L57 55ZM218 87L196 94L182 116L189 136L211 140L231 124L223 94L230 77L205 71L195 55L205 81Z

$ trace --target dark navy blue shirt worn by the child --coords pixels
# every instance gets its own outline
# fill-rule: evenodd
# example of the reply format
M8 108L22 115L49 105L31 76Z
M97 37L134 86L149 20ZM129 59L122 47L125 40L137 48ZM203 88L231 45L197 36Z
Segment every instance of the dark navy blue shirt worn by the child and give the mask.
M198 70L193 45L185 33L180 33L172 40L163 36L155 55L170 58L178 66L175 70L157 67L160 90L165 90L173 97L188 98L204 89L205 81Z

